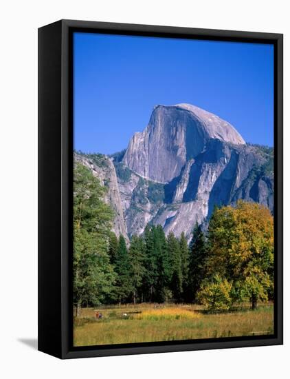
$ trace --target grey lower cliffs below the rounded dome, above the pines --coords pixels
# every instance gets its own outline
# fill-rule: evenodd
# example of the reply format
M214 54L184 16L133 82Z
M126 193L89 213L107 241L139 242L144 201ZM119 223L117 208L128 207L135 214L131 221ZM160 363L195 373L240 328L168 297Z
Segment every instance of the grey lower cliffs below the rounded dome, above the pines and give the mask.
M274 177L265 172L268 161L260 147L211 140L169 183L148 181L134 172L126 180L118 177L129 235L142 234L152 222L162 225L166 234L185 232L189 238L196 221L208 223L214 205L234 205L239 198L273 211ZM156 187L159 196L150 196L150 187Z

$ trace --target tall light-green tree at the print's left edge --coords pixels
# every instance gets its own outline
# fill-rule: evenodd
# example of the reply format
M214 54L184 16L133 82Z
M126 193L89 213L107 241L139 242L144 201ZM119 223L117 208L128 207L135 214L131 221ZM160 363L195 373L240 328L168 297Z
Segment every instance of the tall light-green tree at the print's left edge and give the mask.
M108 255L113 212L102 200L105 189L84 165L74 167L74 304L98 305L113 288Z

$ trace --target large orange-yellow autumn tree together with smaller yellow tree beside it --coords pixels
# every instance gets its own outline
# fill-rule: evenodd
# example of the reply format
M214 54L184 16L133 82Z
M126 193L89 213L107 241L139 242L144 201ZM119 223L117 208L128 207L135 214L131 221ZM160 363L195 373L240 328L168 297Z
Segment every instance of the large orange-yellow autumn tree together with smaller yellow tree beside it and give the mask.
M255 309L258 300L267 300L274 286L274 221L269 209L245 201L216 207L208 227L206 265L201 303L214 309L219 301L222 307L221 295L214 295L221 294L219 283L228 283L224 309L241 301L250 301Z

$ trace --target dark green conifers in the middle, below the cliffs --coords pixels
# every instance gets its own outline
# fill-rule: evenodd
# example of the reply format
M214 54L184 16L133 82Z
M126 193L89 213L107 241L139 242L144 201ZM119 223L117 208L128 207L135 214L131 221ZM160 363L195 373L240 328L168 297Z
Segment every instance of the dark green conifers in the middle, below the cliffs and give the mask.
M198 225L194 238L197 233L202 234ZM195 245L188 248L183 233L180 238L172 232L166 237L161 225L146 225L142 236L132 236L129 247L123 236L111 234L109 256L117 274L111 292L115 299L111 300L134 304L193 302L205 258L205 254L194 254Z

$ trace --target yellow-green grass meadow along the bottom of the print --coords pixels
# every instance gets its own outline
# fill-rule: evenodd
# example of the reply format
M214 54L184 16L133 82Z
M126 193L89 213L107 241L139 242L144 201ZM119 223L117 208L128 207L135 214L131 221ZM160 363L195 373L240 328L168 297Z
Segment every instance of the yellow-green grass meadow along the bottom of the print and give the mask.
M96 313L102 314L101 319ZM199 305L138 304L82 308L74 319L74 346L194 340L274 333L274 305L249 304L218 314Z

